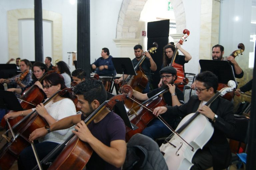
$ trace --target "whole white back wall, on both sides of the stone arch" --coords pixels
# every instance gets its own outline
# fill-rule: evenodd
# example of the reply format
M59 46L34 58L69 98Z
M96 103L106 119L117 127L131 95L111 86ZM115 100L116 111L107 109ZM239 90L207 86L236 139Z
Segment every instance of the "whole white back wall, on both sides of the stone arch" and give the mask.
M110 55L113 57L119 57L118 49L113 39L116 38L116 24L121 4L122 0L90 1L91 63L100 57L103 47L107 47ZM198 73L200 0L183 0L183 4L186 13L187 29L190 30L190 35L187 38L188 41L184 43L183 48L192 56L192 60L185 65L185 71ZM7 11L12 9L32 9L33 7L33 0L0 0L1 63L5 63L9 59ZM42 0L42 8L43 10L54 11L62 15L63 61L68 63L67 52L77 51L77 3L71 5L69 0ZM71 71L74 70L74 66L71 66L70 69Z

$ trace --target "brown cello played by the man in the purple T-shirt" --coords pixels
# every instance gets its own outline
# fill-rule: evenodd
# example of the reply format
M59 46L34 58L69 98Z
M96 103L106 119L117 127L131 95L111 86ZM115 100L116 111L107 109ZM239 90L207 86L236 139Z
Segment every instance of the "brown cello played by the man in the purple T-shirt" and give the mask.
M132 88L129 85L124 85L122 90L124 94L115 95L110 100L103 102L90 116L88 116L84 120L86 125L93 121L93 119L101 113L103 108L108 107L112 109L117 102L127 100L132 96ZM93 150L89 144L81 141L75 134L70 135L62 144L57 146L41 161L41 163L47 163L48 160L58 153L67 142L68 144L53 161L48 170L83 169L87 164Z

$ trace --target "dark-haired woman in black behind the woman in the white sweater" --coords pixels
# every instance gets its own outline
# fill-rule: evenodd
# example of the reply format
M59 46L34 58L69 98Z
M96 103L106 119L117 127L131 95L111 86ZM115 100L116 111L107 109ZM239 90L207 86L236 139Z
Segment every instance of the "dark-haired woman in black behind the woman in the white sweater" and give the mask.
M33 80L26 87L23 87L23 88L10 88L10 89L7 89L7 91L12 91L14 93L22 94L27 88L33 86L33 84L37 85L40 89L43 90L42 84L38 80L47 71L48 71L48 68L47 68L47 66L44 63L42 63L42 62L35 62L33 64L33 67L32 67L32 72L33 72L32 79Z

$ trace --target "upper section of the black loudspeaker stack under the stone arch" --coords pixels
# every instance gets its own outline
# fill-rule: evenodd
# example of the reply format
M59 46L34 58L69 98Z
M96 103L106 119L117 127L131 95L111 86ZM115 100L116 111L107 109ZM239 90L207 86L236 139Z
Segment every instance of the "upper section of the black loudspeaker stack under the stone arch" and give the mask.
M148 38L169 37L170 20L148 22Z

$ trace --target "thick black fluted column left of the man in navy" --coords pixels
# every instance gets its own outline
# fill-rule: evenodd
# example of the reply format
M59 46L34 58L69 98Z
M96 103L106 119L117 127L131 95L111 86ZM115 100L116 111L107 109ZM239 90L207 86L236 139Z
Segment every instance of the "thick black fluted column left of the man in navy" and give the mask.
M77 1L77 68L90 78L90 0Z

